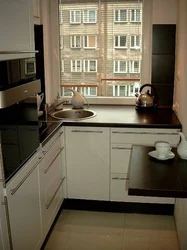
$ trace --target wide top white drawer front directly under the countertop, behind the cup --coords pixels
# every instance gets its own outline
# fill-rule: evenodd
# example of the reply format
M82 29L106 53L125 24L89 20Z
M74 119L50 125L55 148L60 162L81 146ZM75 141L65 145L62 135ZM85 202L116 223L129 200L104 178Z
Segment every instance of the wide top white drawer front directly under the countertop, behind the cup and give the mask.
M111 143L154 146L156 141L168 141L170 145L179 143L178 129L111 129Z

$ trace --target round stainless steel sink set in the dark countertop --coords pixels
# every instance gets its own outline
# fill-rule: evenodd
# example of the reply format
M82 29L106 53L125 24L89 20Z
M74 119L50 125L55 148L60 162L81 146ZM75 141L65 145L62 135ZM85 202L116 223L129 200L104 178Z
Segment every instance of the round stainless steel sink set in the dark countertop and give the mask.
M87 109L66 109L55 111L51 116L59 120L85 120L96 116L96 113Z

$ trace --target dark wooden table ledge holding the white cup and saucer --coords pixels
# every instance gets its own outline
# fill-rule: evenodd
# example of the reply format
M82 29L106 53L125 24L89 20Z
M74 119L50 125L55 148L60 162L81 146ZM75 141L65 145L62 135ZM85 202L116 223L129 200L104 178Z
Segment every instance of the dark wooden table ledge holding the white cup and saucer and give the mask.
M148 155L153 147L133 146L129 195L187 198L187 160L175 157L160 161Z

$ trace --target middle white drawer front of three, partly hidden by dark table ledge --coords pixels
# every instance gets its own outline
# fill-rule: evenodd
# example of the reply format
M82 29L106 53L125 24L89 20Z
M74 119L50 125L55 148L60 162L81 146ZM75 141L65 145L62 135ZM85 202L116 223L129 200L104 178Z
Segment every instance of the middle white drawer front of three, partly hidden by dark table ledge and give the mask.
M131 144L111 145L111 173L128 174Z

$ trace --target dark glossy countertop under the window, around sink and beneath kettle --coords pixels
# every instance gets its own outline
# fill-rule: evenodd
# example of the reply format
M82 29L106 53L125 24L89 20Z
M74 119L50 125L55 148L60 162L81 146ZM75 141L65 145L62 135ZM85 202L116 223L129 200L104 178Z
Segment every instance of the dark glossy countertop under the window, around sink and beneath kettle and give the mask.
M70 109L65 106L64 109ZM182 128L182 125L172 109L160 108L154 111L135 110L135 106L121 105L90 105L97 115L93 118L70 121L61 120L65 126L100 126L100 127L130 127L130 128ZM41 117L41 120L45 118ZM47 121L58 121L47 116Z

